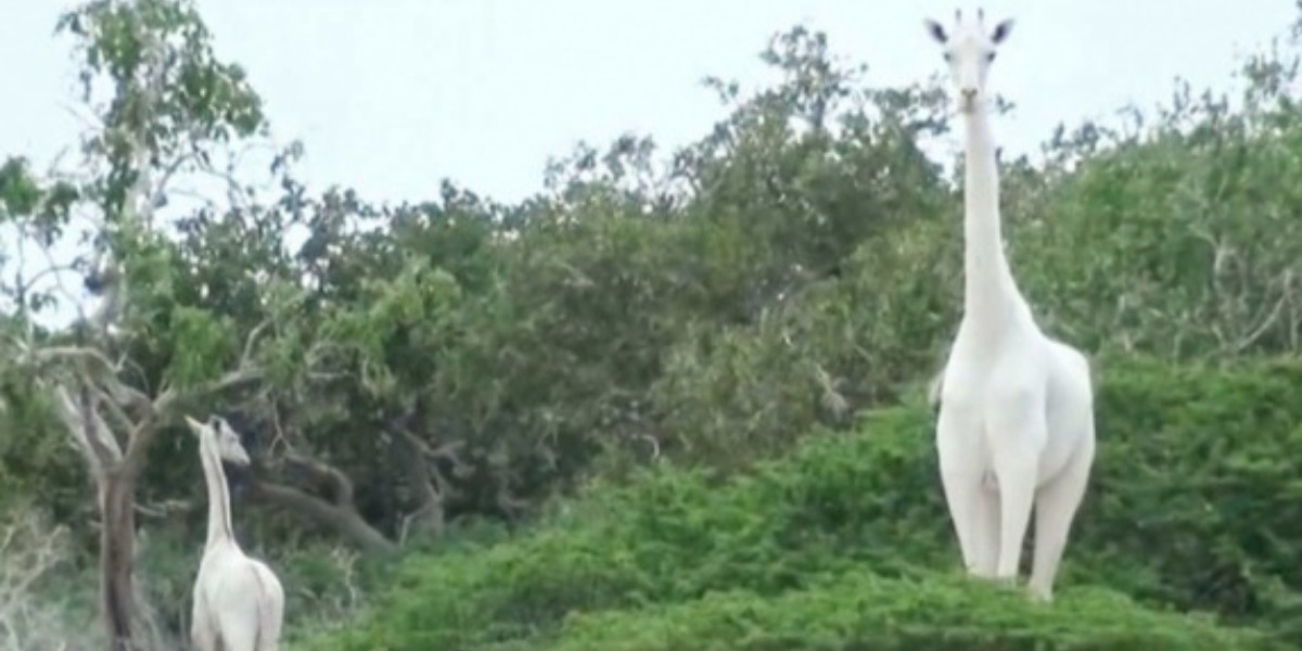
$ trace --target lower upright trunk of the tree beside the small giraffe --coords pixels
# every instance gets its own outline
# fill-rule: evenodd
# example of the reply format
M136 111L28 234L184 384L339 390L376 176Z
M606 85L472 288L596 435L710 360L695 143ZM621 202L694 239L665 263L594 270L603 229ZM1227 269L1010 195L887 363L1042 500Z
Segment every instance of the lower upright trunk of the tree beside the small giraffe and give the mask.
M99 539L100 600L108 626L111 651L141 651L135 639L135 478L124 467L109 467L100 487Z

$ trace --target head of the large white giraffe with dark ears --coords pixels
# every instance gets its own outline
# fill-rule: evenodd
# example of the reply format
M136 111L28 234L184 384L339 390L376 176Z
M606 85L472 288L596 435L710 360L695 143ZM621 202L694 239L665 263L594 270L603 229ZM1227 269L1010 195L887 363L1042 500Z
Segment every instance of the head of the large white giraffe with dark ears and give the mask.
M986 27L986 14L980 9L976 9L976 16L967 17L954 9L954 25L949 31L930 18L924 23L931 38L944 48L958 109L963 113L976 111L986 100L986 76L995 61L995 49L1013 30L1013 20Z

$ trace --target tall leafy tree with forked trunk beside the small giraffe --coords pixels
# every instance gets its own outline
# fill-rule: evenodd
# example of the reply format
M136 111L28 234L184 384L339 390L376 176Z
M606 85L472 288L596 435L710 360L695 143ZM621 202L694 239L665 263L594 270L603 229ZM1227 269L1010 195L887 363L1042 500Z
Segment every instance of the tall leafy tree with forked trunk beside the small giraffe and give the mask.
M38 276L53 280L25 279L30 260L18 259L5 289L22 332L12 341L16 363L33 371L96 487L103 615L112 648L126 651L146 644L133 559L137 483L150 449L181 411L262 374L253 365L260 329L237 348L221 316L178 301L174 281L186 260L158 210L186 174L223 180L232 201L243 198L214 160L229 143L264 135L266 122L243 72L215 57L189 1L92 1L62 16L59 30L76 39L82 100L96 124L73 172L40 180L23 160L5 165L4 217L51 260ZM77 217L90 225L69 233ZM59 260L68 236L81 250ZM78 273L100 297L94 315L64 284ZM79 318L69 331L47 332L38 319L51 307ZM158 358L133 353L160 340L164 361L148 372Z

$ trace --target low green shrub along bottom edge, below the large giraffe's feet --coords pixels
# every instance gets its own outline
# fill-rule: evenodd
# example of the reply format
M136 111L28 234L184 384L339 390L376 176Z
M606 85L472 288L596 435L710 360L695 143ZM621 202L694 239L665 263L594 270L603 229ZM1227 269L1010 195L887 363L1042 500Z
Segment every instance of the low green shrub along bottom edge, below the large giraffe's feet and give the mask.
M523 646L521 646L523 648ZM547 651L1232 651L1284 648L1206 617L1137 608L1103 590L1052 607L963 577L902 581L859 572L762 599L732 591L638 612L578 615Z

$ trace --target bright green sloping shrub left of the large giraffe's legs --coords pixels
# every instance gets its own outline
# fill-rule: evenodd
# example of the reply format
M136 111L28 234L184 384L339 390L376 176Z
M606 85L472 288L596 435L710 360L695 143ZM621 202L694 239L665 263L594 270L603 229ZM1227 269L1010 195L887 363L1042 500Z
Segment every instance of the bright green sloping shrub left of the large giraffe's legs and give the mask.
M901 500L891 490L901 477L931 480L924 448L909 443L927 418L924 410L875 414L880 440L815 436L789 460L724 483L661 469L629 487L592 486L586 501L533 535L418 557L376 609L374 629L340 638L337 648L467 648L555 630L572 611L732 589L781 594L863 564L914 572L901 559L935 562L948 552L939 544L948 523L936 517L936 496ZM936 544L923 553L918 535L928 530ZM917 553L901 555L904 546Z

